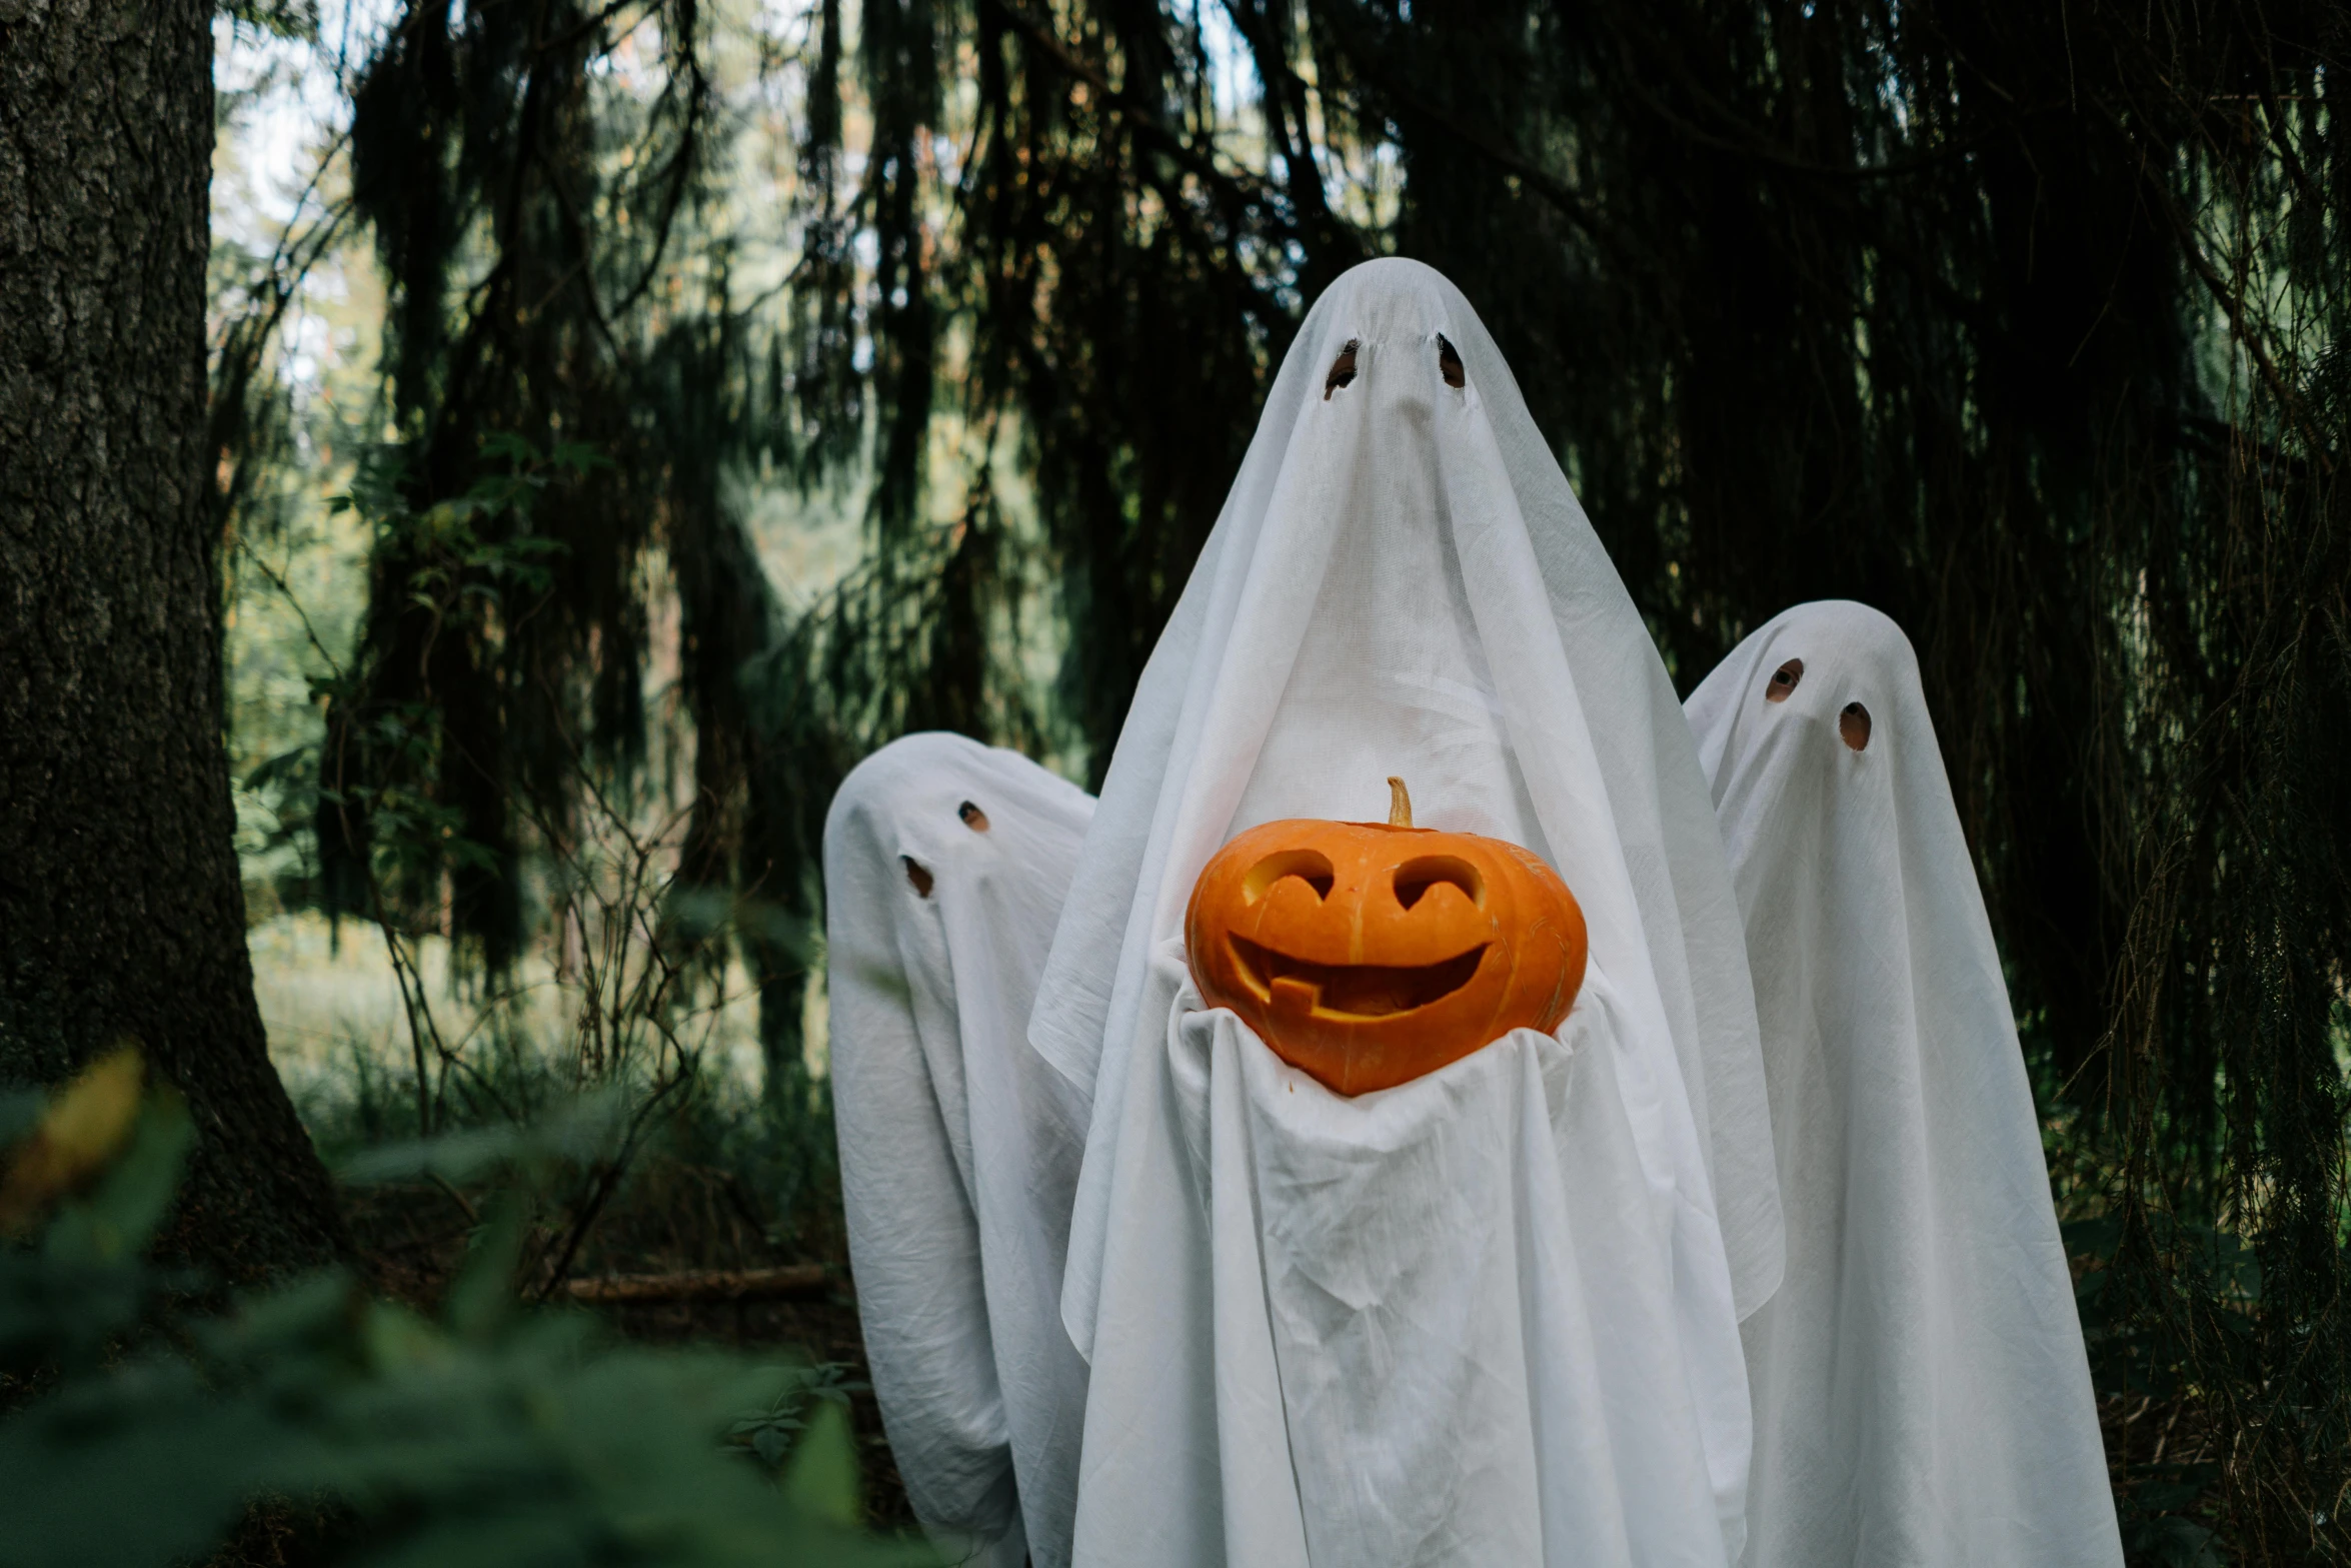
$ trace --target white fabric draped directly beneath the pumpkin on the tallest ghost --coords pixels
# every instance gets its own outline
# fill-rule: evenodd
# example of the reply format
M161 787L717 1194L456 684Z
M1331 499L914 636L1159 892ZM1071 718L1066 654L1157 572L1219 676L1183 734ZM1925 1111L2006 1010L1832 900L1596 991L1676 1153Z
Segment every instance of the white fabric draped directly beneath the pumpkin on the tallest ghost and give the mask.
M1077 1561L1726 1563L1608 983L1354 1100L1154 990Z

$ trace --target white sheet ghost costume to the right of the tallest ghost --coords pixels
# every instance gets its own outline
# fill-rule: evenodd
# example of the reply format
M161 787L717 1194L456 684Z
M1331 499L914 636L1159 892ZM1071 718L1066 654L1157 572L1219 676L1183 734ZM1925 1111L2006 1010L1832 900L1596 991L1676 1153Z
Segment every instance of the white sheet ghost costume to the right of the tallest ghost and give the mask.
M1787 1213L1787 1279L1744 1324L1747 1561L2118 1568L2041 1126L1909 642L1862 604L1801 604L1688 712Z

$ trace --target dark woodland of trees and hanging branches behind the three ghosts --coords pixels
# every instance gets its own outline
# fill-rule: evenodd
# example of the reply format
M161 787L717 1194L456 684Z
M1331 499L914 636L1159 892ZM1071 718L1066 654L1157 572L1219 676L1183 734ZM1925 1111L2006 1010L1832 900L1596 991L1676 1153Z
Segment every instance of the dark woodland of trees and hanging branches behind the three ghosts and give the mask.
M1683 691L1799 599L1909 630L2132 1559L2351 1561L2351 7L110 26L0 2L0 1077L146 1046L195 1128L165 1258L418 1309L484 1237L536 1298L818 1265L611 1316L804 1347L903 1523L809 1037L825 804L933 726L1096 785L1305 306L1406 254ZM331 85L270 223L207 216L270 85L216 99L216 49ZM299 1107L240 896L397 987ZM75 1387L35 1340L19 1403ZM374 1507L252 1495L223 1561L346 1561Z

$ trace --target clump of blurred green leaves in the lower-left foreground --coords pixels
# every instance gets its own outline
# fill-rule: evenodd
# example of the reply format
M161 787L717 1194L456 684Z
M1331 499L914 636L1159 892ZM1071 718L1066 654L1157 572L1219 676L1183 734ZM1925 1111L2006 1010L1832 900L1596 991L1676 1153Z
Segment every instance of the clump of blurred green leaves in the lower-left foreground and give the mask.
M0 1253L0 1371L61 1373L0 1420L0 1568L165 1568L259 1500L331 1514L324 1561L369 1568L938 1561L860 1530L823 1373L635 1347L515 1302L520 1204L494 1211L444 1321L341 1272L172 1312L176 1281L136 1253L169 1204L186 1110L150 1093L127 1133L40 1246ZM447 1152L414 1154L430 1168ZM783 1483L726 1441L745 1418L799 1434Z

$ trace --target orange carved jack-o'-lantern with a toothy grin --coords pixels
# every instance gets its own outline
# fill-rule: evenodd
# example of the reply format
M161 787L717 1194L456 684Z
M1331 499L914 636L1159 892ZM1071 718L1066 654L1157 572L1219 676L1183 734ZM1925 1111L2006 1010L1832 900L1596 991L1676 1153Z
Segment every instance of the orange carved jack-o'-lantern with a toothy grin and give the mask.
M1342 1095L1392 1088L1512 1030L1552 1032L1585 983L1585 912L1505 839L1293 818L1208 860L1185 910L1192 978Z

